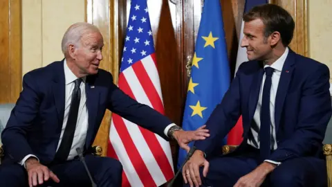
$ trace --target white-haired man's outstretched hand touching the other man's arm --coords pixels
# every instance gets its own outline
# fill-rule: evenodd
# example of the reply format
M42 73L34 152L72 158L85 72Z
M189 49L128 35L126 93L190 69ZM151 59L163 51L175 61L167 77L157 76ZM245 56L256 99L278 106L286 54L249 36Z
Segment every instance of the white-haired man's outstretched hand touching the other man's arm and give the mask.
M206 137L210 136L210 134L208 134L209 130L205 130L205 127L206 125L203 125L195 131L178 130L174 132L173 137L178 141L178 145L180 145L181 148L189 152L190 147L188 143L191 141L204 140Z

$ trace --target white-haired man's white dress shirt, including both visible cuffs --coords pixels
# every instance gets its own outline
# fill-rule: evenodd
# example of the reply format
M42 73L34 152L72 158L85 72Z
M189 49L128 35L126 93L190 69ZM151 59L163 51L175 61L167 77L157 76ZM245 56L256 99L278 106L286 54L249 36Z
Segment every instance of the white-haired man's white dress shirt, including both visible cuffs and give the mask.
M73 94L73 90L75 87L75 80L77 79L76 75L71 71L71 69L68 68L68 65L66 63L66 60L64 60L64 77L65 77L65 90L66 90L66 96L64 101L64 121L62 123L62 130L60 134L59 143L57 144L57 150L59 149L59 146L62 141L62 137L64 136L64 130L66 130L66 123L68 121L68 114L69 109L71 108L71 95ZM69 152L67 160L73 159L75 156L77 156L76 148L83 148L85 144L86 139L86 132L88 130L88 108L86 107L86 94L85 94L85 81L86 78L82 78L82 82L80 84L81 89L81 100L80 100L80 107L78 109L78 115L77 115L77 123L75 128L75 134L73 143L71 145L71 151ZM175 125L174 123L167 125L167 127L164 130L164 134L167 136L167 132L170 127ZM28 158L35 157L33 154L28 154L24 159L21 160L21 165L25 166L25 162ZM39 160L39 159L38 159Z

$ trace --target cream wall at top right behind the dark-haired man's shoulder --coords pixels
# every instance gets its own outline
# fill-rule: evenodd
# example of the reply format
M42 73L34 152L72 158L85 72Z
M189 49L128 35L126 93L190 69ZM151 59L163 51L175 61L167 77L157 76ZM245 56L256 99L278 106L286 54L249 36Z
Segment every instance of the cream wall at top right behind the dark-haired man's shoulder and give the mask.
M307 1L309 55L329 66L332 78L332 0Z

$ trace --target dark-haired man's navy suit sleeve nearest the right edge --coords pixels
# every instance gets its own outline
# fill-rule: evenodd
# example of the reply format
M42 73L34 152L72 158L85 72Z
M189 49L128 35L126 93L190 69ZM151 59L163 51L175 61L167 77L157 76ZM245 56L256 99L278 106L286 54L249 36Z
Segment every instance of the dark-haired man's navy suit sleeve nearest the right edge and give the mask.
M308 76L302 90L295 133L278 144L269 160L282 162L322 149L326 127L331 118L329 78L329 68L324 64Z

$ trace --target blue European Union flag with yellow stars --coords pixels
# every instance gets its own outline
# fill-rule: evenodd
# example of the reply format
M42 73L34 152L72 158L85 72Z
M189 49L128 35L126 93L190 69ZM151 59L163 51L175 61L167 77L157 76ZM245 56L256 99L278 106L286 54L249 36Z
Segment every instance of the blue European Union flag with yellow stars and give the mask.
M205 0L192 60L183 129L196 130L204 125L229 86L230 67L221 5L219 0ZM225 141L220 144L225 144ZM186 155L187 152L180 148L178 168Z

